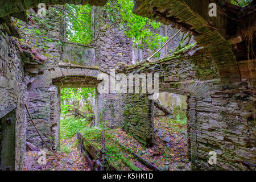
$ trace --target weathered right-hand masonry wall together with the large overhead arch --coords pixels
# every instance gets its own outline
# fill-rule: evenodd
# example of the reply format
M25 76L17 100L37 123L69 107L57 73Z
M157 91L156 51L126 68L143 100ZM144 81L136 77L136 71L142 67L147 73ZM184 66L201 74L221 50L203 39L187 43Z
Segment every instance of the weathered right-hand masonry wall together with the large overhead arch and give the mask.
M193 167L255 170L255 57L245 56L246 52L237 48L247 39L255 41L255 19L248 19L251 22L240 27L224 14L210 18L208 9L202 9L209 3L136 1L135 14L183 27L193 32L197 43L204 47L203 52L188 59L167 57L158 63L144 63L144 66L142 63L141 72L158 72L162 75L160 90L188 96L189 152ZM217 5L226 7L225 2ZM250 8L255 9L255 2ZM245 18L246 8L235 11L237 19ZM255 18L255 13L249 10L247 16ZM226 29L231 22L237 26L236 32ZM233 42L234 36L240 36L243 41ZM255 51L255 45L250 51ZM144 128L145 125L146 122ZM136 134L138 130L135 131L131 133ZM212 150L217 152L216 166L207 163L208 152Z

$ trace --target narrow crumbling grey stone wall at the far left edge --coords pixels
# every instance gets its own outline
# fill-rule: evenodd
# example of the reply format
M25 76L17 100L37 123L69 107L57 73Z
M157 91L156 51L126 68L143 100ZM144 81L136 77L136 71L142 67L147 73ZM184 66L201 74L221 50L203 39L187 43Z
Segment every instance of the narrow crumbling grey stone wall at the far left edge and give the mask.
M15 169L22 169L26 150L26 86L23 63L18 47L7 34L5 23L0 24L0 118L15 110ZM0 134L1 135L1 134ZM1 137L0 137L1 138Z

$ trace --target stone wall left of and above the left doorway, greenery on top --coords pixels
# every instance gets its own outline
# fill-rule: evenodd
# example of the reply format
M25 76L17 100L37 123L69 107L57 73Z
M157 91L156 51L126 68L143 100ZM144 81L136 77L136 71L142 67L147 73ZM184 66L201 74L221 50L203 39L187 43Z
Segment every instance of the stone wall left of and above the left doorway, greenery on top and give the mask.
M43 60L35 62L34 56L23 56L28 109L42 138L56 149L60 145L60 89L97 86L98 71L86 68L98 63L94 48L63 41L61 17L55 9L47 10L43 18L33 10L28 12L34 22L23 22L30 31L22 32L22 38L27 40L28 47L43 47L36 50ZM38 30L41 31L39 35ZM29 55L32 51L28 49L27 52ZM27 119L30 121L28 115ZM27 124L27 141L40 148L46 147L35 127L30 122Z

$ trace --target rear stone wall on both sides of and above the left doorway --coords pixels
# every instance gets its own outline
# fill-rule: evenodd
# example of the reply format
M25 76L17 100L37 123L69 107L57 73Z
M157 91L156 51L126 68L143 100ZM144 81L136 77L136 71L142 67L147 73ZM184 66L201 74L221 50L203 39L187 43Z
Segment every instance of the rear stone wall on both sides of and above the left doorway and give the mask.
M108 71L110 66L118 65L129 59L128 46L122 43L124 34L121 30L113 29L111 36L99 36L98 47L89 47L77 43L65 42L62 39L60 16L55 10L49 9L46 18L42 19L32 10L29 10L31 16L36 19L34 24L26 23L26 27L33 31L33 28L39 29L46 22L48 27L43 32L46 42L41 42L37 36L23 34L23 39L27 39L30 46L36 46L38 43L44 43L44 48L39 53L45 56L42 64L31 64L31 61L25 65L26 78L28 84L29 110L38 127L43 139L52 148L59 147L60 132L60 89L67 87L97 87L98 73ZM107 31L106 34L109 32ZM51 40L51 41L47 41ZM102 41L102 42L101 42ZM125 45L123 45L125 44ZM123 47L120 47L123 45ZM112 46L112 47L110 47ZM132 47L129 44L130 47ZM114 48L113 48L114 47ZM126 49L126 48L127 49ZM117 51L113 50L117 48ZM118 57L121 53L122 59ZM115 55L113 55L115 53ZM108 59L108 56L117 56L114 59ZM120 55L120 54L119 54ZM120 60L119 60L120 59ZM97 95L96 102L96 124L106 121L109 127L118 127L122 119L122 103L118 102L117 94ZM112 113L115 113L114 115ZM100 121L99 121L100 120ZM27 140L35 146L43 147L42 140L32 125L28 124Z

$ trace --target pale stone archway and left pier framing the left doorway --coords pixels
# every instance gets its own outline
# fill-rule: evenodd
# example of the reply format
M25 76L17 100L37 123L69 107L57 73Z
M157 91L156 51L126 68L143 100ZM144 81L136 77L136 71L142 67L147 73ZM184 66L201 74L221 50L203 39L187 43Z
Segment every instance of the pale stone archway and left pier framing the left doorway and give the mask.
M43 139L56 149L60 140L60 89L97 87L98 71L85 68L55 68L44 71L28 85L28 109ZM28 119L29 120L29 119ZM97 106L96 106L97 121ZM30 123L27 141L43 147L42 140Z

